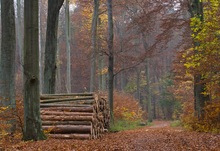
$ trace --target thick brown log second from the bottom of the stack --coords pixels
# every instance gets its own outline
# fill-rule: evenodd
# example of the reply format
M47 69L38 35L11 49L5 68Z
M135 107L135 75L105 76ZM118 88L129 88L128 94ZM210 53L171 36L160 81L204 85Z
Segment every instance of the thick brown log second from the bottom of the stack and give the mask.
M56 125L56 126L42 126L42 128L50 133L66 134L66 133L80 133L91 134L92 126L88 125Z

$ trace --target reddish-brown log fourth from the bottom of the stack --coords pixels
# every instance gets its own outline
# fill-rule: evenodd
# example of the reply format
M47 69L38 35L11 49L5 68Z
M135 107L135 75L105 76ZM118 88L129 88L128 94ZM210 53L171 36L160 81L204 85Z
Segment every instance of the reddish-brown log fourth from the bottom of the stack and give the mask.
M93 121L93 116L55 116L41 115L43 121Z

